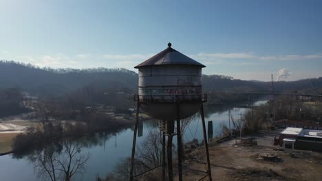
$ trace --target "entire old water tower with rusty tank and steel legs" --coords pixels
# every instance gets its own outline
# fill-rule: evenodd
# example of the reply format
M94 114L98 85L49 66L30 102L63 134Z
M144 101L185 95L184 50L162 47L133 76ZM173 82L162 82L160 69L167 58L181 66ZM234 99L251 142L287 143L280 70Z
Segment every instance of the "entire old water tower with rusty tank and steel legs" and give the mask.
M138 95L136 123L133 136L131 157L131 173L129 180L135 180L133 176L133 162L136 148L136 132L138 130L138 114L142 109L149 116L162 122L162 180L165 180L165 170L168 168L168 178L173 180L172 166L172 138L177 136L178 141L178 178L182 180L182 138L180 119L190 117L200 110L202 116L202 128L204 132L204 145L208 170L206 176L211 180L211 167L208 155L208 143L204 123L203 103L206 95L202 94L202 68L203 64L171 48L161 51L148 60L138 64ZM176 128L175 128L176 122ZM167 162L165 154L167 136ZM206 177L205 176L205 177Z

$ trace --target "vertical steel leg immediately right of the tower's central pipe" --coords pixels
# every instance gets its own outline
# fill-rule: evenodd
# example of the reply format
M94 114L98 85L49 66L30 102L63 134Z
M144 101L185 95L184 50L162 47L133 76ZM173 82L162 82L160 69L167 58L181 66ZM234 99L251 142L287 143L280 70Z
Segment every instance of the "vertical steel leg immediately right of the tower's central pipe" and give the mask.
M177 104L177 143L178 143L178 176L179 181L182 181L182 142L180 128L180 104Z

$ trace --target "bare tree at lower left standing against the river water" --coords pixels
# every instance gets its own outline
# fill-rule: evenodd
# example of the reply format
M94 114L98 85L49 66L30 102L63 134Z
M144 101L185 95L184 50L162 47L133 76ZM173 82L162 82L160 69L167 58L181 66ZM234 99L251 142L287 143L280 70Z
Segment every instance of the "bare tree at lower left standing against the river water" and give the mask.
M61 145L52 144L40 153L30 156L39 177L52 181L70 181L76 174L83 175L89 154L81 154L80 143L80 140L67 139Z

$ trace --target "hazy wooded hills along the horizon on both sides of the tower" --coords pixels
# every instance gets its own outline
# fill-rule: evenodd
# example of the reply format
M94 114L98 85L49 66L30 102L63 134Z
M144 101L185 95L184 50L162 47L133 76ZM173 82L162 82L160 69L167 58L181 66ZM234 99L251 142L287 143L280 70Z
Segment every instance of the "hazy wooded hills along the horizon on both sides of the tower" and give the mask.
M226 92L271 91L270 82L238 80L224 75L203 75L204 90ZM135 93L138 74L127 69L50 69L13 61L0 61L0 89L19 87L32 94L57 97L79 88ZM293 82L275 82L275 90L314 90L322 88L322 77Z

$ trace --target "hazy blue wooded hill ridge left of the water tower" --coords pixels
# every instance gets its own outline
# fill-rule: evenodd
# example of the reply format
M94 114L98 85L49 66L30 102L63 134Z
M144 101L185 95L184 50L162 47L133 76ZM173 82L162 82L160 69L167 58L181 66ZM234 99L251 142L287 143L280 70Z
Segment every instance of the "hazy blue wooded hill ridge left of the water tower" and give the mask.
M62 95L85 86L134 90L138 75L127 69L50 69L0 61L0 88L19 87L39 95Z

